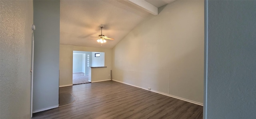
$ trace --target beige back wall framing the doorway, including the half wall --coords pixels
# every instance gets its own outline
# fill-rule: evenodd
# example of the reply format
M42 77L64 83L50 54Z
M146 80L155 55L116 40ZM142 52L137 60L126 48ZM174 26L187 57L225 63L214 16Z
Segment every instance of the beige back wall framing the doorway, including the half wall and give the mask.
M112 49L60 45L60 86L72 85L73 51L104 52L107 68L92 69L92 82L110 79Z

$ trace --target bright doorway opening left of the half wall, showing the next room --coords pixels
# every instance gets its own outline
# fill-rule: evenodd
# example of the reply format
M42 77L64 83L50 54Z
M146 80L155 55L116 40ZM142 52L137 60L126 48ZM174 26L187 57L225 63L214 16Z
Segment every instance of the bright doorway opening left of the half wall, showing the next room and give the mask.
M91 82L88 74L90 54L90 52L86 51L73 51L73 85Z

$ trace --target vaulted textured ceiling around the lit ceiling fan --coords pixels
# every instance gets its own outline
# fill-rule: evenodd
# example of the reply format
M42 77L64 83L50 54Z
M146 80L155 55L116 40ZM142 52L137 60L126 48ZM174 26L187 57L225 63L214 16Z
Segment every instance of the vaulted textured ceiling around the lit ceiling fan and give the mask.
M174 0L61 0L60 1L60 44L112 49L136 25L154 16L143 8L152 5L164 6ZM138 2L138 1L137 1ZM114 41L107 40L102 45L90 36L102 34Z

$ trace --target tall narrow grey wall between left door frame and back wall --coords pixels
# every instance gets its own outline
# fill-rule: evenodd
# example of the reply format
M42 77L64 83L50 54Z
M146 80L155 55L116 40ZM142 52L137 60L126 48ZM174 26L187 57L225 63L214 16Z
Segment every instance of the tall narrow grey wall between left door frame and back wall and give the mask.
M34 0L33 112L58 107L60 0Z

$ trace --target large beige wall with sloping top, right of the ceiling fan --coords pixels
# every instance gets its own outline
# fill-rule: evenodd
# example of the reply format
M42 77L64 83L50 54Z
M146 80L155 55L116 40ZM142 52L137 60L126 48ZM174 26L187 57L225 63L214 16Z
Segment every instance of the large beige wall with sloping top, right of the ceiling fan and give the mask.
M202 104L204 1L166 5L138 24L112 55L113 80Z

